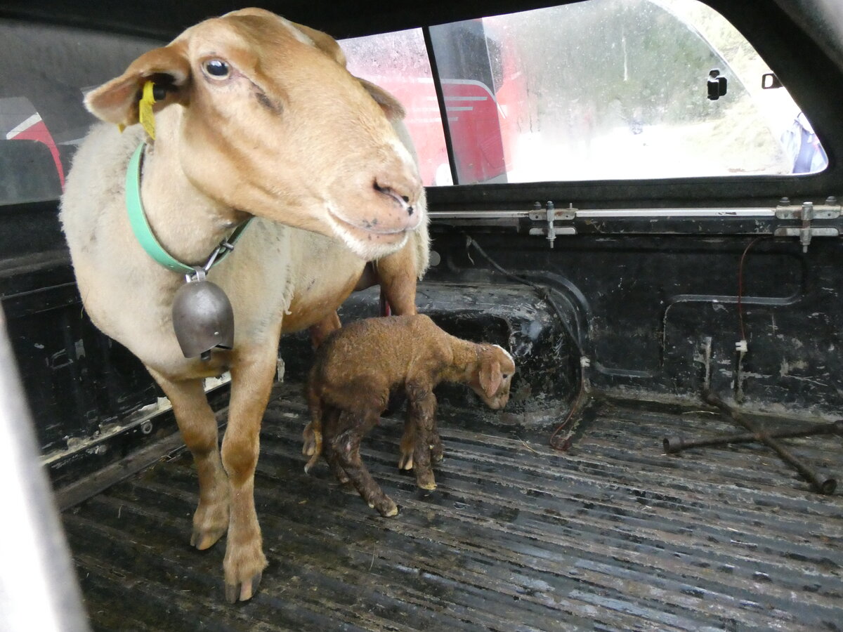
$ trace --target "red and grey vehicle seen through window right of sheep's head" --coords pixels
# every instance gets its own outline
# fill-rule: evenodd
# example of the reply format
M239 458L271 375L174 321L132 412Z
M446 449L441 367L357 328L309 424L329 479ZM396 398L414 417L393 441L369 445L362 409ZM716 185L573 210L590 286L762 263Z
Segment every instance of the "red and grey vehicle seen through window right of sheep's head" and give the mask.
M459 184L506 182L524 84L484 20L432 27ZM349 70L395 94L425 185L452 184L442 116L420 30L342 42ZM399 52L400 51L400 52ZM384 60L386 60L384 62Z

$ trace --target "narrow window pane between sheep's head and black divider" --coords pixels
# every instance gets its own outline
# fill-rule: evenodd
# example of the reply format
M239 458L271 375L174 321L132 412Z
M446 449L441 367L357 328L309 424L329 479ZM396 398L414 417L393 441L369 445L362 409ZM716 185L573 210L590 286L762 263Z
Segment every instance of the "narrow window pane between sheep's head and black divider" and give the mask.
M425 185L450 185L442 116L421 29L340 42L353 75L379 85L404 105L405 123Z

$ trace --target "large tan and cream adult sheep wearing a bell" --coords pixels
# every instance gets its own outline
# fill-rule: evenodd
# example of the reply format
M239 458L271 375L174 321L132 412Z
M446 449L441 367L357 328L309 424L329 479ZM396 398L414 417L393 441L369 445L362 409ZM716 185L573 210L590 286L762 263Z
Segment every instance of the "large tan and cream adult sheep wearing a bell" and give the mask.
M153 94L154 139L135 125ZM185 30L85 104L111 125L89 132L62 197L79 292L172 402L199 479L191 544L207 549L228 532L226 597L246 600L266 567L254 477L282 331L336 318L365 260L385 257L384 270L410 267L414 279L427 265L423 189L394 128L403 110L353 78L328 35L254 8ZM138 206L180 265L205 264L255 217L207 275L233 306L231 349L181 350L171 310L185 273L153 260L126 211L126 169L144 141ZM220 450L201 379L226 370Z

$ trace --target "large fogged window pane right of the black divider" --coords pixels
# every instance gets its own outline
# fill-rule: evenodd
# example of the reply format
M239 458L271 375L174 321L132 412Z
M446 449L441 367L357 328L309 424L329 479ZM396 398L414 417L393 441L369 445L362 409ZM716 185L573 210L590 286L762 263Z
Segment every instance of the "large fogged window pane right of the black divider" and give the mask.
M431 37L460 184L827 163L785 88L762 88L770 69L695 0L591 0L438 25Z

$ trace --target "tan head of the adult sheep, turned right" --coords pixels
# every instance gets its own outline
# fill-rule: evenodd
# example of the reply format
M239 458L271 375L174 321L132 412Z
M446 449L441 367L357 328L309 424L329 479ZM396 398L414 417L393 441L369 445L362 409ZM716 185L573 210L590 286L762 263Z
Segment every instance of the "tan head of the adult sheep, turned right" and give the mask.
M352 77L329 35L262 9L228 13L140 56L86 105L135 124L150 80L156 144L175 144L213 200L339 238L364 259L400 248L424 221L416 164L390 124L404 110Z

